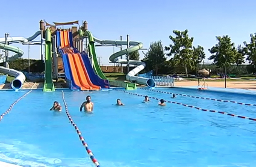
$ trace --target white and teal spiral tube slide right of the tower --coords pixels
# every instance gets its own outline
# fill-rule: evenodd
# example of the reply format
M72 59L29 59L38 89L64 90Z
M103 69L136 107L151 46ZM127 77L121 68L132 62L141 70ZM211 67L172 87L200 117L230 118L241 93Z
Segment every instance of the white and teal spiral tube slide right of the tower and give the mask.
M81 31L81 30L80 30ZM113 45L126 45L126 41L113 41L113 40L99 40L98 38L93 37L92 33L90 31L86 31L87 35L90 38L90 41L94 40L100 44L113 44ZM127 63L126 59L118 59L119 56L126 55L131 52L135 52L137 50L142 49L143 44L137 41L130 41L130 47L128 49L121 50L119 52L114 53L113 55L110 56L110 61L115 62L115 63ZM90 45L90 47L92 47ZM95 49L92 49L95 50ZM96 54L96 53L92 53ZM128 74L126 74L126 80L129 80L130 82L133 83L139 83L141 85L146 85L149 88L154 88L155 87L155 82L153 79L145 78L145 77L138 77L135 76L137 73L139 73L141 70L143 70L146 67L145 62L142 61L134 61L130 60L130 64L137 65L136 68L131 70Z

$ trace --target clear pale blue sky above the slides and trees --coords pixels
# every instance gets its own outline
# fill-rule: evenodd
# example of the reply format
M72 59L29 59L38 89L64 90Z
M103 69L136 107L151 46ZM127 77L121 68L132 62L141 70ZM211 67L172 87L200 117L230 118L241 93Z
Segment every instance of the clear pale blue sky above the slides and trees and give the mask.
M101 40L119 40L120 35L126 40L129 34L130 41L140 41L148 49L151 42L158 40L169 46L173 30L188 29L190 37L194 37L193 46L203 46L208 58L208 49L216 44L216 36L229 35L237 46L249 41L249 35L256 32L256 1L252 0L2 0L1 4L0 38L6 32L11 37L30 37L39 31L40 20L79 20L80 25L86 20L89 31ZM24 51L23 58L28 58L28 45L13 45ZM110 64L108 58L117 50L120 48L96 47L101 64ZM40 59L40 46L30 46L30 58Z

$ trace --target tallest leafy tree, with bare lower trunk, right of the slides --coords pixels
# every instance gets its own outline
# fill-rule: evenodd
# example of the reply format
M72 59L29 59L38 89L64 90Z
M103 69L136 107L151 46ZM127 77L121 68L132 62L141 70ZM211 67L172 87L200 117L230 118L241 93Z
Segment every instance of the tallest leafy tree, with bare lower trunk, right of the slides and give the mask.
M192 67L194 65L192 49L193 37L190 38L188 32L187 29L185 31L173 30L175 37L172 35L169 36L173 44L165 47L166 51L170 51L167 53L167 56L173 55L173 62L175 65L183 64L187 77L187 67Z

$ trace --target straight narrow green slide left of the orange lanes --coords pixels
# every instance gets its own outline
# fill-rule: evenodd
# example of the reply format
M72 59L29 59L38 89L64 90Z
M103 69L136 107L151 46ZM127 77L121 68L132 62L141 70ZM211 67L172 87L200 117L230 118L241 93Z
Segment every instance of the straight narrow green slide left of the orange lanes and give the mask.
M43 84L43 91L55 91L54 83L52 82L52 42L49 28L45 31L45 83Z

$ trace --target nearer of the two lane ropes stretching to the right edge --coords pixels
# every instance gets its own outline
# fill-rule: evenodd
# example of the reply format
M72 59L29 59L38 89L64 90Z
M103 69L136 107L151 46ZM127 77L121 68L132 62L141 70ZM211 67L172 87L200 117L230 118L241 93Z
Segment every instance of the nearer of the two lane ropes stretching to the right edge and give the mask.
M115 91L121 91L121 92L126 93L126 94L132 94L132 95L140 96L140 97L145 97L145 96L146 96L146 95L142 95L142 94L130 93L130 92L128 92L128 91L123 91L123 90L117 90L117 89L113 89L113 90L115 90ZM160 100L160 99L157 98L157 97L149 97L149 99ZM245 117L245 116L236 115L236 114L229 114L228 112L216 111L216 110L211 110L211 109L202 109L202 108L198 108L198 107L196 107L196 106L191 106L191 105L186 105L186 104L183 104L183 103L171 102L171 101L166 101L166 100L164 100L164 102L166 102L166 103L172 103L172 104L176 104L176 105L181 105L181 106L185 106L185 107L188 107L188 108L195 108L195 109L198 109L198 110L200 110L200 111L216 112L216 113L219 113L219 114L229 115L229 116L231 116L231 117L237 117L237 118L248 119L248 120L251 120L251 121L256 121L256 118L250 118L250 117Z

